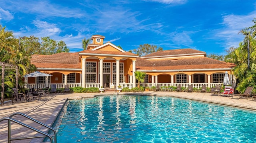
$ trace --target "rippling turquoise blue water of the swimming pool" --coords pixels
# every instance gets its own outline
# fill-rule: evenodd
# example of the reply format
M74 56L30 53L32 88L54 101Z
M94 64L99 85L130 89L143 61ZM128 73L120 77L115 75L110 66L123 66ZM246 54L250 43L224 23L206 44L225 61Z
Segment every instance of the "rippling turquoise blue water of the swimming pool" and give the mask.
M58 123L58 143L256 143L256 112L172 97L69 100Z

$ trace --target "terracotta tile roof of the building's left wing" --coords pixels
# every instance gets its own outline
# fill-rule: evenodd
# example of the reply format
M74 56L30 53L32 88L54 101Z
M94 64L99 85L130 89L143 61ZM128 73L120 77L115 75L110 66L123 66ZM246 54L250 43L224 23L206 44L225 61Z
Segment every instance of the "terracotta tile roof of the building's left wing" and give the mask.
M81 69L78 53L57 53L31 59L31 63L38 68Z

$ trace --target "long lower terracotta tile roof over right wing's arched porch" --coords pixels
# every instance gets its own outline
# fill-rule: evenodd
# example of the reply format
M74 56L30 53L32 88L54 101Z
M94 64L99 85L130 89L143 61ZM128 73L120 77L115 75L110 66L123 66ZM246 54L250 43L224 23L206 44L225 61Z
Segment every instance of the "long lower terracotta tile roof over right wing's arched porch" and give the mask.
M150 61L136 58L136 68L140 70L224 69L232 68L234 66L233 63L226 63L208 57Z

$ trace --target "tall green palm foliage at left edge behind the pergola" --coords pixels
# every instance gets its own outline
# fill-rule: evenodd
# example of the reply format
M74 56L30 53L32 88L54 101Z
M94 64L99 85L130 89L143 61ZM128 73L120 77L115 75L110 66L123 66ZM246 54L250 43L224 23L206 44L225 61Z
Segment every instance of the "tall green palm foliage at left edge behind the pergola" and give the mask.
M30 58L24 54L24 50L19 48L19 39L15 38L12 31L5 31L5 27L0 25L0 61L12 65L18 65L18 85L22 86L22 78L29 71L34 71L36 68L30 63ZM1 71L1 70L0 70ZM15 86L16 71L13 69L5 70L4 76L4 92L6 96L10 96L11 89Z

